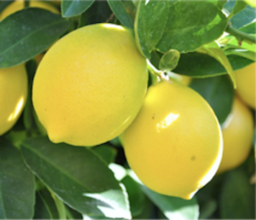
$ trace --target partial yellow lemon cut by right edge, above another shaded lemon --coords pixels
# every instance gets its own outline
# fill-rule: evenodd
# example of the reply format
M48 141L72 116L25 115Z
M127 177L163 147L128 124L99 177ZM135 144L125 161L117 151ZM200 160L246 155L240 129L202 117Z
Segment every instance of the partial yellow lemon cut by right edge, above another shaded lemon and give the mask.
M235 73L237 94L249 107L256 109L256 62Z

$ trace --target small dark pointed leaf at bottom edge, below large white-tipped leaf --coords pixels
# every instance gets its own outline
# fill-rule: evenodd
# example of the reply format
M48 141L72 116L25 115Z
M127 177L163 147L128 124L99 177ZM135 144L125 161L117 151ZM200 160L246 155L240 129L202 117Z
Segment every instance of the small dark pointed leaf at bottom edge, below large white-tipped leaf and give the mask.
M60 220L55 201L46 188L37 193L33 220Z

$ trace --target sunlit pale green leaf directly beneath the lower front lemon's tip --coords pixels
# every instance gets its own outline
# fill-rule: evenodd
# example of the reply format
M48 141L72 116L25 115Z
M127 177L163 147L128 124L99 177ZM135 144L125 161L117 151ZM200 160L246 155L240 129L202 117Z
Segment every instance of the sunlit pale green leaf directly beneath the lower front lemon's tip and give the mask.
M142 186L143 192L153 201L155 206L170 219L197 220L199 217L199 206L195 197L191 200L183 200L177 197L157 194L154 191Z

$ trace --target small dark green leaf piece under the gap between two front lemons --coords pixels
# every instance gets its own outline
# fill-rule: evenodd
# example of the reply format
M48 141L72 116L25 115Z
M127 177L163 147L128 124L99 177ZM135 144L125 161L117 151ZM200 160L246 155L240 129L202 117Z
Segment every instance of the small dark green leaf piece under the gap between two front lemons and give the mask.
M113 163L117 154L117 150L108 144L102 144L91 150L101 157L107 164Z

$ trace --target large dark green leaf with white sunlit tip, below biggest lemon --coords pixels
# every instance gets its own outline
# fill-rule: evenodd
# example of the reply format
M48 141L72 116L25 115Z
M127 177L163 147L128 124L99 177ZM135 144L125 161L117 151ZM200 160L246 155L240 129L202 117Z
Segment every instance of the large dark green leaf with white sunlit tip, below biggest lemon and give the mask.
M46 137L28 139L21 147L29 168L68 206L87 215L131 218L124 188L89 148Z

